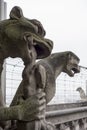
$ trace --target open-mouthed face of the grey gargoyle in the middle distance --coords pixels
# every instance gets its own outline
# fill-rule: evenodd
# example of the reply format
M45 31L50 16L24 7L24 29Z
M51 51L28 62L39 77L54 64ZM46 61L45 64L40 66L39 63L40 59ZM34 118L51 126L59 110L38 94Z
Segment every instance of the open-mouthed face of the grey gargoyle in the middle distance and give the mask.
M73 77L75 73L80 72L79 58L73 52L66 52L66 65L64 72Z

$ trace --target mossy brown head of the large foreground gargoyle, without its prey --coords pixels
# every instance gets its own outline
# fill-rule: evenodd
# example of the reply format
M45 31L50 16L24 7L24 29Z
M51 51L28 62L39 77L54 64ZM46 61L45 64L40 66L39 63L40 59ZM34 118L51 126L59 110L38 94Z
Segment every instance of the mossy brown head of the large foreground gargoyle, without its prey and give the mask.
M42 24L36 19L25 18L22 9L15 6L10 12L10 18L0 21L0 79L3 62L7 57L19 57L24 61L25 66L31 62L30 46L25 40L27 36L30 37L29 42L33 43L37 52L37 59L44 58L51 53L53 43L44 38L45 30ZM0 104L4 104L2 92L0 92Z

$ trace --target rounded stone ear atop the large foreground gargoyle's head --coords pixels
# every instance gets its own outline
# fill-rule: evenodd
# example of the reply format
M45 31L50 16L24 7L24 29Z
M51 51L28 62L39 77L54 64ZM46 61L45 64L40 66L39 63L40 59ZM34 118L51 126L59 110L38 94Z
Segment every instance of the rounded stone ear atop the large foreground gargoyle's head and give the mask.
M10 19L19 19L23 17L22 9L18 6L12 8L10 12Z

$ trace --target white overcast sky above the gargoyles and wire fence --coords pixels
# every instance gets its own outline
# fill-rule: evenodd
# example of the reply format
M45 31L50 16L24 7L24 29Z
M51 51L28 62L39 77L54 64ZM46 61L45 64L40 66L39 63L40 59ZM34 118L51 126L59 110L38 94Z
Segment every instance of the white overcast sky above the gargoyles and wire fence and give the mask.
M5 0L7 15L15 5L24 16L38 19L53 40L53 52L73 51L87 66L87 0Z

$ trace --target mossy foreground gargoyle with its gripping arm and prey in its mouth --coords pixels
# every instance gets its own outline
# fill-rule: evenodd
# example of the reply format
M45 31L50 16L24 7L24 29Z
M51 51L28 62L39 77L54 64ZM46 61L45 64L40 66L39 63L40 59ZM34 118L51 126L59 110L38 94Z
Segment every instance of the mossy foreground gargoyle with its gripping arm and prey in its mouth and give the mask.
M31 98L32 95L36 98L35 95L38 95L38 92L36 93L36 87L35 87L36 82L33 73L35 60L50 55L52 48L53 48L53 42L45 38L45 30L42 24L36 19L30 20L25 18L23 16L22 9L18 6L15 6L14 8L12 8L10 12L10 18L0 22L0 76L3 70L3 62L5 58L20 57L25 65L23 71L23 80L24 80L23 88L24 88L24 94L26 95L25 99L28 99L29 97ZM4 103L2 102L1 91L0 91L0 97L1 97L0 104L1 106L4 106ZM29 108L31 109L30 111L32 115L30 116L31 120L33 120L33 117L34 120L37 117L40 118L40 116L38 116L38 112L41 112L44 109L45 104L45 98L42 97L43 95L41 94L41 99L38 100L38 98L36 98L35 99L36 102L32 102L29 99L31 102L29 103ZM25 108L24 104L26 104L28 107L28 103L26 101L24 103L24 101L20 99L20 106L1 108L0 111L1 120L11 120L11 118L14 118L15 120L17 120L16 118L18 118L18 120L22 120L26 118L29 112L28 110L24 109ZM35 104L39 105L38 109L35 106ZM19 111L20 112L22 111L21 114ZM25 112L26 114L24 114L24 111L26 111ZM4 122L0 123L2 125L4 124Z

